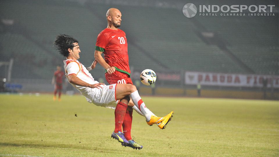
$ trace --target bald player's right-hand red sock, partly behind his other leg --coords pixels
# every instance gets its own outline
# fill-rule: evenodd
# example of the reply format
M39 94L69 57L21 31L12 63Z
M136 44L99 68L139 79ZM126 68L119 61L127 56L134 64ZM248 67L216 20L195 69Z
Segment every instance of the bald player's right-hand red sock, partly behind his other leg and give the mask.
M122 124L123 133L126 140L132 140L131 137L132 120L133 120L133 110L132 111L127 110Z

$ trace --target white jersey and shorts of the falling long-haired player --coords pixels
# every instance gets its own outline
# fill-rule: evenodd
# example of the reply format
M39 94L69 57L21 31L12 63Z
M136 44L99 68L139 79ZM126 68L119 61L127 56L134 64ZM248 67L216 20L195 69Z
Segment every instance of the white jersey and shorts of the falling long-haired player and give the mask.
M83 64L81 64L78 60L64 60L64 69L66 72L66 77L69 82L69 75L75 74L82 81L89 84L99 83L95 81L89 71L85 68ZM69 82L70 83L70 82ZM77 90L81 92L86 97L86 100L89 103L94 103L97 106L103 106L106 108L115 109L117 105L115 88L116 84L113 85L101 85L103 88L89 88L79 85L73 85Z

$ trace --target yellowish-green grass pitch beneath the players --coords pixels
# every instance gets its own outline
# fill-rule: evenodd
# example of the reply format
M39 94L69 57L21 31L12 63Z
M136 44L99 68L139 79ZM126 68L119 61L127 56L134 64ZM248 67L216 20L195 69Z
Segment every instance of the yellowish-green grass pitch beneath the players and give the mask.
M165 130L133 114L143 149L110 138L114 110L81 95L0 95L0 156L279 156L278 101L143 97ZM75 116L77 115L77 117Z

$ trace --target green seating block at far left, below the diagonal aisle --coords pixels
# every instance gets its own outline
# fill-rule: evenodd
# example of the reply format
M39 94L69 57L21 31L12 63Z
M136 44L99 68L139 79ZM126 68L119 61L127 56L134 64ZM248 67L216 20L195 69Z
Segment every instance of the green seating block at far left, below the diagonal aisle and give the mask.
M51 67L45 66L51 63L52 56L26 40L22 35L4 33L0 35L3 58L15 58L12 72L13 78L33 77L41 78L51 74ZM1 56L2 57L2 56Z

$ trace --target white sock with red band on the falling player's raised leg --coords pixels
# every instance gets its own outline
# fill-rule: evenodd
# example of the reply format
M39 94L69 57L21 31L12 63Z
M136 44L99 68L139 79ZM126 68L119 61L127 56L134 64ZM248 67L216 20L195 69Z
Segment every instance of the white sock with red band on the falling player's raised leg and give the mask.
M137 92L137 90L136 90L135 92L130 94L130 97L131 97L132 101L134 102L135 106L138 109L140 109L140 111L144 115L146 121L149 122L152 114L151 114L151 111L148 108L146 108L144 102L142 101L142 98L139 95L139 92Z

